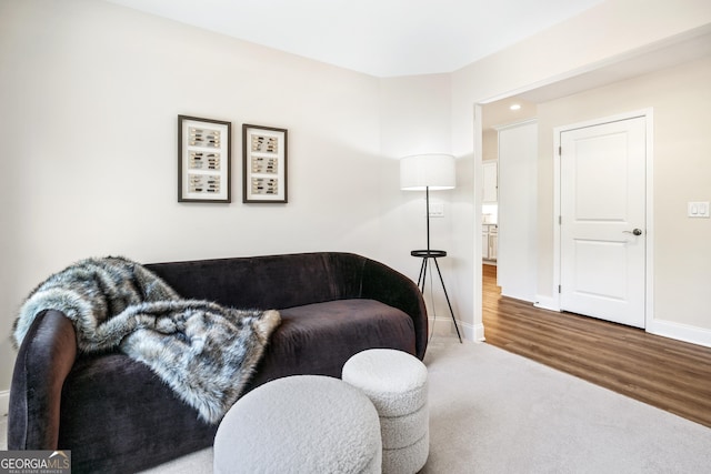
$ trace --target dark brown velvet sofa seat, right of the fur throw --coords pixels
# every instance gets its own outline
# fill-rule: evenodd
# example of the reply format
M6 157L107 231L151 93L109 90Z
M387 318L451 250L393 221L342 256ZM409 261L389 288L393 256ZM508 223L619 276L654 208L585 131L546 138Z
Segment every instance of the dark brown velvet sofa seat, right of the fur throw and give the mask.
M281 325L272 334L248 390L299 374L340 379L346 361L367 349L415 353L412 319L379 301L336 300L279 312Z

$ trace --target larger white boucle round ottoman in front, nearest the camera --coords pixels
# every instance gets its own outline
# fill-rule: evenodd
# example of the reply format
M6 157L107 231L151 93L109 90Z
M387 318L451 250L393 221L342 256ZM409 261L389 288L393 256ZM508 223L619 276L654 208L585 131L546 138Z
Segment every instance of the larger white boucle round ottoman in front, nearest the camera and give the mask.
M237 401L214 436L214 473L381 472L378 412L351 385L294 375Z

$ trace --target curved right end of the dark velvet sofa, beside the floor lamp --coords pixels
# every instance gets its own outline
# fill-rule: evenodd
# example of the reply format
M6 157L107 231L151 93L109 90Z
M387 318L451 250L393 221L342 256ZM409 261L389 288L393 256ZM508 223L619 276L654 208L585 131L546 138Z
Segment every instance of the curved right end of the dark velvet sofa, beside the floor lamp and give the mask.
M402 273L367 259L361 281L361 297L378 300L402 310L414 324L415 355L422 360L428 343L428 317L424 299L418 285Z

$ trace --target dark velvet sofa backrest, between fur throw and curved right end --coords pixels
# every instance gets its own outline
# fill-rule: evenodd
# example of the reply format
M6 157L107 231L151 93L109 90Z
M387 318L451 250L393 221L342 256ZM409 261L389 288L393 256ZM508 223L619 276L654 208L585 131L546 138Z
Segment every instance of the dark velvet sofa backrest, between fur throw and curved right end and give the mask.
M319 252L146 265L181 296L233 307L284 309L361 296L367 259Z

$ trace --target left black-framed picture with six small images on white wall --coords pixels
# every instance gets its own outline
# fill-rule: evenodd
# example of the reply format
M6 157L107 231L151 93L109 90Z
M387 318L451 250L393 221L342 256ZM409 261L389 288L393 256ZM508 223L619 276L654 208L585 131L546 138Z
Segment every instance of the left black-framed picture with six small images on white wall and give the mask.
M231 202L232 123L178 115L178 202Z

